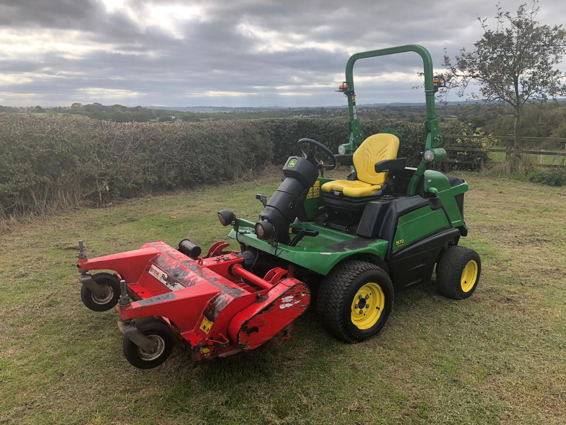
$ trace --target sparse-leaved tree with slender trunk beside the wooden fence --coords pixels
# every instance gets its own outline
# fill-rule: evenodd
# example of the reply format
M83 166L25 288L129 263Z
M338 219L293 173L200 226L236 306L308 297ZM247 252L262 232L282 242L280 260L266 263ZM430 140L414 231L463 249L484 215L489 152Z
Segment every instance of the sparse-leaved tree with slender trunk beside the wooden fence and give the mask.
M521 159L522 107L566 95L566 73L556 68L566 53L566 31L563 25L541 25L538 12L537 0L519 6L516 16L498 5L494 29L478 16L483 36L475 42L473 52L462 48L454 61L446 50L444 53L444 93L456 88L458 96L464 97L471 88L469 99L497 107L507 105L515 116L512 169Z

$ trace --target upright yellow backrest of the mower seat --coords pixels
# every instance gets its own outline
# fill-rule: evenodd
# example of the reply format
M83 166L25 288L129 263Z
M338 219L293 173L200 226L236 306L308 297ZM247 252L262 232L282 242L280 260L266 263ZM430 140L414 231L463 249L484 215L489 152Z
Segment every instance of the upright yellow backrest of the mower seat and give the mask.
M376 173L375 163L397 158L399 138L395 134L378 133L366 138L354 152L353 162L358 180L382 185L387 173Z

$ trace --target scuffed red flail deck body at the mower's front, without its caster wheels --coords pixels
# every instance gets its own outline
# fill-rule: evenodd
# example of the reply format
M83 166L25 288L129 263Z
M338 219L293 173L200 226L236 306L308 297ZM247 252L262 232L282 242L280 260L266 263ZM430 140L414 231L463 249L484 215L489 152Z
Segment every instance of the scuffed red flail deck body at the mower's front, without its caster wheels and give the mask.
M222 252L227 246L216 243L204 257L192 260L155 241L133 251L78 260L78 267L82 273L114 270L135 300L117 307L120 318L164 318L190 345L195 360L229 356L289 338L291 322L308 306L308 288L297 279L284 279L288 271L279 267L265 278L245 270L237 252ZM167 275L166 283L149 273L152 266L160 270L158 275ZM285 301L289 296L294 304L282 308L289 304Z

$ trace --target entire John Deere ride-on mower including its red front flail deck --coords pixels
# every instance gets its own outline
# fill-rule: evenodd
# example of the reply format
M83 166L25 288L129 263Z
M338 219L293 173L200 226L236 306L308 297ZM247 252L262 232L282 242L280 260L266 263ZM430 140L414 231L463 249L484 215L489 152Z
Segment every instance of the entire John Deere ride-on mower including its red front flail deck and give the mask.
M356 112L354 63L402 52L416 52L424 63L426 142L417 168L397 158L403 141L395 130L365 137ZM335 155L323 143L299 140L300 155L286 161L273 196L256 196L264 207L258 221L220 211L218 220L231 227L239 251L219 242L201 255L185 239L177 248L156 241L88 259L81 241L83 303L93 311L118 304L126 359L147 369L163 363L177 340L194 360L278 345L289 338L313 290L321 321L349 343L378 333L395 292L430 281L435 265L439 292L468 298L481 273L478 254L458 245L468 234L468 184L428 169L446 155L434 104L441 86L422 46L354 54L338 90L348 97L349 142ZM338 164L350 167L344 179L322 176Z

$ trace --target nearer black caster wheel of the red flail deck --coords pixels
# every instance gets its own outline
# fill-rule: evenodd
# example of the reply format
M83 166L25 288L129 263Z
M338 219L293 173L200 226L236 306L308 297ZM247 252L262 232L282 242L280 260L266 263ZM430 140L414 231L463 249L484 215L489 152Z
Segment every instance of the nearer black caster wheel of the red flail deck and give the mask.
M175 338L169 326L154 318L145 319L136 323L138 330L149 339L156 342L155 352L145 352L127 337L124 337L122 349L126 360L138 369L151 369L159 366L169 358Z

